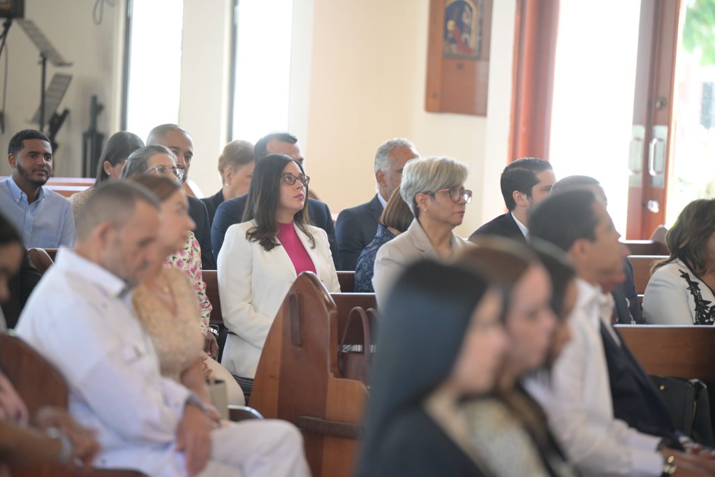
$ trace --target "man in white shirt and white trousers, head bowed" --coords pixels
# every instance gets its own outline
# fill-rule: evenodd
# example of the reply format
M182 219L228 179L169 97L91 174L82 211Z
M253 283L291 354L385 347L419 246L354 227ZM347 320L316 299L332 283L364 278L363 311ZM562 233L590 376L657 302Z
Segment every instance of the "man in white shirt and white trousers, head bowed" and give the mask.
M77 225L76 249L59 251L16 332L67 380L71 414L102 445L95 465L152 477L308 475L292 425L212 428L197 397L159 372L131 305L155 252L156 198L110 182L87 200Z

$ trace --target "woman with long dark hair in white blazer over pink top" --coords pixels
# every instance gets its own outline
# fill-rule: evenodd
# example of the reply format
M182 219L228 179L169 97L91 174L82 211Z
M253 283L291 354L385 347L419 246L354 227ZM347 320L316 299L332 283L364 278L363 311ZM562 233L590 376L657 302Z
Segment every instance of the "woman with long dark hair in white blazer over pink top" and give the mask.
M330 292L340 292L324 230L308 225L310 177L297 162L270 154L256 163L245 222L226 232L217 277L229 330L221 364L246 395L278 308L300 272L315 272Z

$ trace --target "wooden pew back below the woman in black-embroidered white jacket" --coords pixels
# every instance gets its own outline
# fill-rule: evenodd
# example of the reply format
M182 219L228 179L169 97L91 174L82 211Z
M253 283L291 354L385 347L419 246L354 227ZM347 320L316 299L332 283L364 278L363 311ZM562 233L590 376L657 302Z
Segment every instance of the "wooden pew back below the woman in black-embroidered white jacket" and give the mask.
M646 373L715 382L714 326L617 325ZM709 389L711 395L715 389Z

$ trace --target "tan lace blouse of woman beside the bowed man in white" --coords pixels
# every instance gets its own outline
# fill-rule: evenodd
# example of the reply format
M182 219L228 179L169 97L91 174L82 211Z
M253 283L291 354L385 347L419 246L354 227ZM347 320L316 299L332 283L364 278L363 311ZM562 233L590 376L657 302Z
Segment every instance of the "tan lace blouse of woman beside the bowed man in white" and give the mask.
M204 338L196 326L199 305L184 273L163 268L162 274L174 295L177 313L171 313L144 285L134 290L132 305L152 338L162 375L180 381L181 373L199 359L204 350Z

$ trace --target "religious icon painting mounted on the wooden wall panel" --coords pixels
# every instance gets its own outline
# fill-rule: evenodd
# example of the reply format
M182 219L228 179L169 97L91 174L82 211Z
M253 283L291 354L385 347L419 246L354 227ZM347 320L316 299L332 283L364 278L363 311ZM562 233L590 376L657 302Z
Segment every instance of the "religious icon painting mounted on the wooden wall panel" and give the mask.
M445 0L443 56L478 59L483 21L484 0Z

